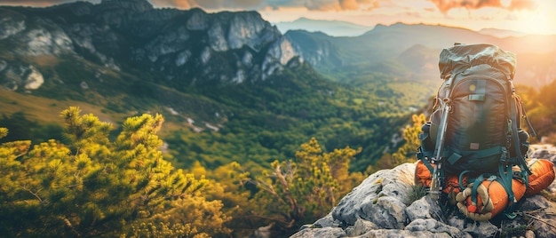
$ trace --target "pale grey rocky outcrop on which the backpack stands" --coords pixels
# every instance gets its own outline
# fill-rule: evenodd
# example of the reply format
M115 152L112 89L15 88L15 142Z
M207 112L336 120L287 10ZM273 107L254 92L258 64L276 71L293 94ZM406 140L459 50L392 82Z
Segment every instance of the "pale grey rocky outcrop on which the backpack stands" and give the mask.
M556 147L536 145L530 158L556 162ZM556 237L556 182L517 204L517 218L465 218L425 196L409 200L414 163L378 171L353 188L330 213L290 237ZM552 199L551 199L552 198ZM504 217L504 218L502 218Z

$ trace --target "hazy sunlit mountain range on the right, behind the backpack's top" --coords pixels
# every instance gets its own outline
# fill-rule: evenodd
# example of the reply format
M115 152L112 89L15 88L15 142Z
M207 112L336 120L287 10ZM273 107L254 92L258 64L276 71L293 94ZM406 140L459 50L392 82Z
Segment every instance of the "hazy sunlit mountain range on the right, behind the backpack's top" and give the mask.
M353 75L346 77L346 74L354 71L359 75L380 72L404 79L436 80L438 68L432 65L438 63L441 49L454 43L496 44L505 51L517 53L517 83L539 88L556 78L556 69L551 66L556 57L556 46L552 44L556 36L499 38L465 28L403 23L377 25L364 35L353 37L303 30L290 30L285 36L302 59L320 73L340 81L351 80ZM418 52L407 58L411 51Z

